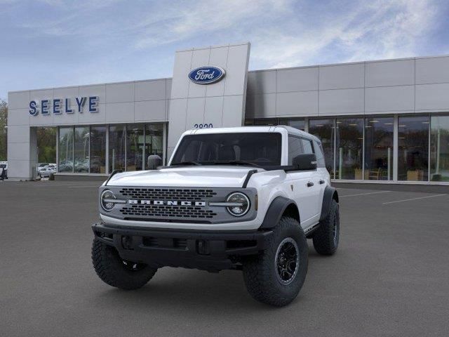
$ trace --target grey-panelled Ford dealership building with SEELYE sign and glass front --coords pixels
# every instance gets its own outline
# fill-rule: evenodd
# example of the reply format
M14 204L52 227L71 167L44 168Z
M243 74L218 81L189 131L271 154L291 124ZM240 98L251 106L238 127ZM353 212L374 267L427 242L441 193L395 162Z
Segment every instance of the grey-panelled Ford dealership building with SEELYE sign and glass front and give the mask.
M177 51L173 77L8 93L8 176L36 175L55 127L58 176L166 163L193 128L289 125L318 136L331 178L449 185L449 56L248 71L250 44Z

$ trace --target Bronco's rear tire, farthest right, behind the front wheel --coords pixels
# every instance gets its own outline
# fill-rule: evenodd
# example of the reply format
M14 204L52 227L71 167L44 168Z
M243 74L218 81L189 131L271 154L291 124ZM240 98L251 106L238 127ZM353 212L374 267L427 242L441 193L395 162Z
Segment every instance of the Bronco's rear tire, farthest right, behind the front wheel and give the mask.
M337 251L340 241L340 211L335 199L332 199L328 216L320 221L312 239L316 252L321 255L333 255Z

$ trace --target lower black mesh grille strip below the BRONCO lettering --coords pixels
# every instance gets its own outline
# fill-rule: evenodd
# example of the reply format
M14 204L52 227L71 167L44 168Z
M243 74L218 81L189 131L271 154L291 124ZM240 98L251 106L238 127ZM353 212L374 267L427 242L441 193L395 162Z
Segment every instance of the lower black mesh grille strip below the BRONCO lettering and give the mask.
M167 206L167 205L127 205L120 212L123 216L145 216L147 218L213 218L217 215L209 209L196 206Z

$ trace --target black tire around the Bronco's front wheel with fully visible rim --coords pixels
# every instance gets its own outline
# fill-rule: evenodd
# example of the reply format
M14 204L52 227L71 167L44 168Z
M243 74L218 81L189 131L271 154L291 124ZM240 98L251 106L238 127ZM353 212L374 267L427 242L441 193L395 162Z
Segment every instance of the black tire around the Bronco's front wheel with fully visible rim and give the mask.
M291 238L297 244L299 263L290 284L281 284L276 274L276 251L283 240ZM274 227L267 243L267 249L257 256L243 261L243 279L246 289L255 300L282 307L288 305L300 292L307 275L307 239L300 223L294 218L283 216Z

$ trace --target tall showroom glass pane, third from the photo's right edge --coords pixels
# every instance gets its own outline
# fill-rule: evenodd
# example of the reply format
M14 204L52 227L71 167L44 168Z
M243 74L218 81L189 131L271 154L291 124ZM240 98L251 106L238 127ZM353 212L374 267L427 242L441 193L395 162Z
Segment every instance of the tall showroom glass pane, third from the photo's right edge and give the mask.
M366 180L393 179L393 117L365 119L365 173Z

